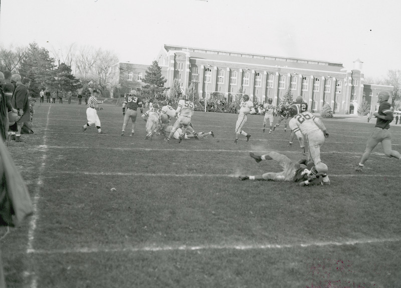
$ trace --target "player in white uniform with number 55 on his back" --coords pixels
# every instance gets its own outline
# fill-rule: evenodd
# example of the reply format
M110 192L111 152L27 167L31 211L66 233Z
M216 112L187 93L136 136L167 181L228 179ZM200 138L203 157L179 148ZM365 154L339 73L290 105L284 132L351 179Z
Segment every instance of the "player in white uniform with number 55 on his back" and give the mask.
M195 109L195 106L193 105L193 103L191 101L188 100L188 96L184 95L180 98L180 100L178 101L178 107L175 110L175 116L178 116L177 121L175 121L170 135L168 135L168 137L166 139L164 139L166 142L171 140L171 137L174 135L175 131L178 128L182 129L182 132L179 136L178 139L178 143L181 143L182 139L184 139L184 135L186 132L186 129L188 129L189 127L189 123L191 122L191 118L193 115L193 110ZM196 133L195 133L196 135Z

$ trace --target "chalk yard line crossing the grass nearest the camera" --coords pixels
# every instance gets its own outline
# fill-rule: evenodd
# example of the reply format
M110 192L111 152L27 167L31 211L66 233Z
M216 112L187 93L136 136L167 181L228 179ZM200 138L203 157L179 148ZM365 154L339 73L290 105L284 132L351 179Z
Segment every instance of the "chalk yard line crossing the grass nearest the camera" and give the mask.
M107 247L82 247L76 249L37 249L32 250L30 253L35 254L66 254L66 253L101 253L101 252L156 252L156 251L194 251L194 250L266 250L266 249L285 249L285 248L305 248L305 247L324 247L324 246L350 246L357 244L374 244L385 242L399 242L401 239L388 238L388 239L360 239L349 240L344 242L309 242L309 243L295 243L295 244L246 244L238 243L231 245L178 245L178 246L127 246L118 248Z

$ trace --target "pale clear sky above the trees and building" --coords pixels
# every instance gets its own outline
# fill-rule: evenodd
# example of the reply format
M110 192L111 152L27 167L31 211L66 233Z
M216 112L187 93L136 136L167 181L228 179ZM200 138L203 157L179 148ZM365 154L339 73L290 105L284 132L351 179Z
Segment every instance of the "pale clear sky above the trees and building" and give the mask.
M164 44L401 70L395 0L1 0L0 46L93 46L150 65Z

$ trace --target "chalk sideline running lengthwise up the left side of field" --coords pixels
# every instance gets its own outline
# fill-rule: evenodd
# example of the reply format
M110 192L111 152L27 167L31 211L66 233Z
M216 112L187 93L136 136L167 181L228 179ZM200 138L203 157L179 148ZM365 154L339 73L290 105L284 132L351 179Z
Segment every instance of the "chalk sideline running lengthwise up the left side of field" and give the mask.
M31 221L29 223L29 230L28 230L28 245L27 245L27 253L31 253L34 251L33 243L35 239L35 230L36 230L36 222L39 219L39 210L38 210L38 203L40 200L40 190L43 186L43 179L45 178L45 168L46 168L46 159L47 159L47 152L48 152L48 147L47 147L47 128L49 126L49 115L50 115L50 108L52 106L49 106L49 110L47 113L47 121L46 121L46 129L43 132L43 145L40 145L38 147L39 151L42 152L42 157L40 158L41 161L41 166L39 167L39 175L38 175L38 180L36 182L36 189L34 192L34 197L32 200L32 206L33 206L33 215L31 216ZM33 271L25 271L24 275L26 277L32 277L31 279L31 288L36 288L37 287L37 275Z

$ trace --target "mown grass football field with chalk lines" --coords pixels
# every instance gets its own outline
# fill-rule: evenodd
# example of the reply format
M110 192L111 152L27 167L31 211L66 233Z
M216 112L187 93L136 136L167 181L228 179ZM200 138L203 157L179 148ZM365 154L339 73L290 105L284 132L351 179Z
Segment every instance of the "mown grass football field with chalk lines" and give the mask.
M35 108L35 134L9 147L35 209L2 239L9 287L401 286L401 163L378 146L354 171L372 123L323 119L331 185L299 187L236 177L280 170L250 151L301 157L283 124L262 133L262 116L233 145L237 115L195 112L215 138L178 144L145 140L139 117L121 137L121 107L98 112L101 135L82 132L84 105Z

